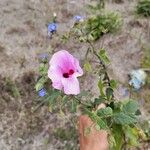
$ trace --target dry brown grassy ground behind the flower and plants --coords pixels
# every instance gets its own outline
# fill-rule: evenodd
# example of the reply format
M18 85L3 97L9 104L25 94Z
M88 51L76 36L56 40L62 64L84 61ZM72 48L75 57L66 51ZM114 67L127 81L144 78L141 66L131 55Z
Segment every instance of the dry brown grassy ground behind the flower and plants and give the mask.
M47 24L56 12L58 36L61 36L71 27L74 15L86 15L84 6L88 2L90 0L0 1L0 150L77 149L77 140L66 146L67 138L62 141L54 134L56 126L66 130L71 128L69 115L61 118L50 113L47 106L36 112L32 110L37 106L34 84L38 77L39 54L47 52L50 47L54 51L67 49L82 62L87 48L73 41L69 45L62 44L57 37L50 40ZM127 86L129 72L140 67L142 48L150 41L150 20L135 15L136 2L108 1L108 10L121 13L123 27L118 33L107 34L96 42L97 47L103 45L107 49L112 62L109 72L119 81L120 88ZM96 94L97 79L93 81L90 75L84 77L81 88L92 89ZM149 89L145 91L148 95ZM143 92L140 92L139 100L143 99ZM116 95L123 97L119 89ZM149 114L149 106L147 103L144 111L145 103L141 103L143 114Z

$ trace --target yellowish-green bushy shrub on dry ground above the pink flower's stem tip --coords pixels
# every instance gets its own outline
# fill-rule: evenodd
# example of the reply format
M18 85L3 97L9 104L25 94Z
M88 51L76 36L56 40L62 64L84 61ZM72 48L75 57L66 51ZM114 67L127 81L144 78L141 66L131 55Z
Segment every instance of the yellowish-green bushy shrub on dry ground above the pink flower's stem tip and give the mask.
M113 33L120 29L122 19L118 13L100 13L88 18L82 24L82 31L91 41L98 40L106 33Z

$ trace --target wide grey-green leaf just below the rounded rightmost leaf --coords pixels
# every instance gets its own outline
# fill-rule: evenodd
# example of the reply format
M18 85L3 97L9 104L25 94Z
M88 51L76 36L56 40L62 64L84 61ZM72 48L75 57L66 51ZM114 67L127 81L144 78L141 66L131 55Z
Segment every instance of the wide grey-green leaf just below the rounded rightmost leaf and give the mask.
M129 125L137 122L135 115L127 115L124 114L123 112L116 113L113 116L113 120L116 124L121 124L121 125Z

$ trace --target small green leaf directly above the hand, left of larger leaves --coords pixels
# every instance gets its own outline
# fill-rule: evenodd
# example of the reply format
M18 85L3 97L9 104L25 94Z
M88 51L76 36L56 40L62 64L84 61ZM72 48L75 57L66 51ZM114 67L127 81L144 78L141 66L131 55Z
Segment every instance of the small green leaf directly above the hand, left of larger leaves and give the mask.
M97 110L97 115L100 117L111 116L113 114L113 110L111 107L101 108Z

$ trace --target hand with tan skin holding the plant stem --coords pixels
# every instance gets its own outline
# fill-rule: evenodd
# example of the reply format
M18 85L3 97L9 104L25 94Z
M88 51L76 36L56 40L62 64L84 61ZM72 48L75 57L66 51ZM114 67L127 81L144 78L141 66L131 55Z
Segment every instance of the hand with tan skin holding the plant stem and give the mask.
M105 107L100 105L99 108ZM93 121L87 116L82 115L79 118L80 150L108 150L107 132L96 130L92 127L91 132L85 135L85 129L91 127Z

